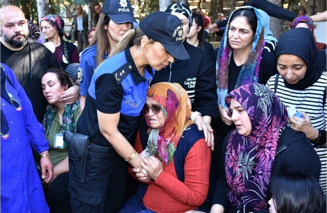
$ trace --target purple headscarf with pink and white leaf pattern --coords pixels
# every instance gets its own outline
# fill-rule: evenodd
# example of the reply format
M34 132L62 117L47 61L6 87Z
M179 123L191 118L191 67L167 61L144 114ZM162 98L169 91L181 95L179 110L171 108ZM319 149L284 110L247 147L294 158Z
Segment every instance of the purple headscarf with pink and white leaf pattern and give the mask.
M226 96L238 101L251 121L248 136L234 130L228 139L225 172L229 200L246 212L267 208L267 191L278 134L287 123L287 111L282 101L266 86L246 84Z

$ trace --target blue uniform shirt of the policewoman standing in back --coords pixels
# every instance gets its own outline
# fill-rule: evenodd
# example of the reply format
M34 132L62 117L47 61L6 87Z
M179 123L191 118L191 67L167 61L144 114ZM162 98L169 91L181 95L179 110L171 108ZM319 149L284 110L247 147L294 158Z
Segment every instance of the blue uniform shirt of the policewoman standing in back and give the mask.
M89 90L93 71L97 67L96 65L96 44L83 50L79 62L77 71L77 78L79 80L79 94L86 96ZM104 54L103 60L108 57L107 53Z

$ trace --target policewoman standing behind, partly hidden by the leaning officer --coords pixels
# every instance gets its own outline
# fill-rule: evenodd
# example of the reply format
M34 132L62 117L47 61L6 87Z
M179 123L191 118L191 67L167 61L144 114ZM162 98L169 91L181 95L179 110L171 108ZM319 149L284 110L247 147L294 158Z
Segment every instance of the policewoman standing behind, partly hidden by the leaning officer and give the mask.
M93 71L115 50L121 37L133 28L136 22L129 0L106 0L101 9L95 38L82 54L78 69L80 81L81 111L90 87ZM99 45L99 46L98 46Z

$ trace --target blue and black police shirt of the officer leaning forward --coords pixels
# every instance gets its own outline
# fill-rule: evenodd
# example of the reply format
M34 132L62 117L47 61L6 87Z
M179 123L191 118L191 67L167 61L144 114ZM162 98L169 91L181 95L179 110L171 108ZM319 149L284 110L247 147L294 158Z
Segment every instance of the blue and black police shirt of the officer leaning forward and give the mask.
M154 72L147 66L144 77L141 76L129 47L100 64L93 74L85 108L77 122L77 133L89 135L93 143L111 146L99 131L97 110L106 114L120 112L118 131L129 141L136 130Z

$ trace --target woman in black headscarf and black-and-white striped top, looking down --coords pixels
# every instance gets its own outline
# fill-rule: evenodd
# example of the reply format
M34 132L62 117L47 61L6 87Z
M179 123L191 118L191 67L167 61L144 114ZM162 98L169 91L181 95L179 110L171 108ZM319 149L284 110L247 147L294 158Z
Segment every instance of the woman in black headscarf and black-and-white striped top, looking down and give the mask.
M267 86L287 107L296 107L304 117L289 118L290 126L304 132L314 145L321 161L320 186L326 192L327 75L318 54L310 30L300 27L286 31L275 49L279 74L272 76Z

